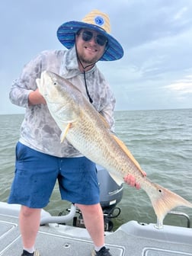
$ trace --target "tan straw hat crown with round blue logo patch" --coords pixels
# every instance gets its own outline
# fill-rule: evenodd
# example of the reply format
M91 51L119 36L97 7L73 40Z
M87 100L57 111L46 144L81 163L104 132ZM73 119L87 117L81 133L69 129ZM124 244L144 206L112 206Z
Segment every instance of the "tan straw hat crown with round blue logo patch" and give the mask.
M104 12L93 10L89 12L82 21L101 27L107 33L110 33L110 19L107 14L104 14Z

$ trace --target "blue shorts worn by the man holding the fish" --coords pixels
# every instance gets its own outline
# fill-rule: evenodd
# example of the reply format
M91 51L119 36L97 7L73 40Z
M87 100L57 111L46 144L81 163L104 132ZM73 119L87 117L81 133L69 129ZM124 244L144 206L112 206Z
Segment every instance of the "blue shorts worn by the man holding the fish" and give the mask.
M8 203L43 208L50 201L57 179L62 200L85 205L99 203L97 170L88 158L59 158L18 142Z

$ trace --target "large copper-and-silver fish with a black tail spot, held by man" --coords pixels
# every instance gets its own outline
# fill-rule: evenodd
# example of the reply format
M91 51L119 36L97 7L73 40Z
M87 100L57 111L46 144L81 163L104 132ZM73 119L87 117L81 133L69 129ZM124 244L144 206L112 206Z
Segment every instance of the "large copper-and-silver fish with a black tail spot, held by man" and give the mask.
M82 155L106 168L117 184L122 184L127 174L133 174L148 194L159 225L174 207L192 207L192 203L146 178L123 142L110 133L104 118L72 83L46 71L37 79L37 86L62 131L61 142L68 139Z

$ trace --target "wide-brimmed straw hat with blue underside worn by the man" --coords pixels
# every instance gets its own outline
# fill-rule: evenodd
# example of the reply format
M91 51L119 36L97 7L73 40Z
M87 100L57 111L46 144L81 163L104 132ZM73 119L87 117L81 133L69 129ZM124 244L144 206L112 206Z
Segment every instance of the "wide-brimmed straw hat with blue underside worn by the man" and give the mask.
M117 60L123 57L123 48L110 33L110 20L107 14L93 10L82 21L68 21L57 30L57 38L67 49L75 44L75 34L82 28L95 30L107 37L107 49L100 60Z

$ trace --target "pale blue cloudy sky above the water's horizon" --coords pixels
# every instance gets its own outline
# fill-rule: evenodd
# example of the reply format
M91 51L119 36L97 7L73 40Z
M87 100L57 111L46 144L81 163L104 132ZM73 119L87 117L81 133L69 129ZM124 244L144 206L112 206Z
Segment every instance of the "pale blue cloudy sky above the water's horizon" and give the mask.
M56 38L66 21L98 9L110 17L122 59L98 62L117 100L116 110L192 108L191 0L2 0L0 114L23 114L8 94L30 59L65 50Z

